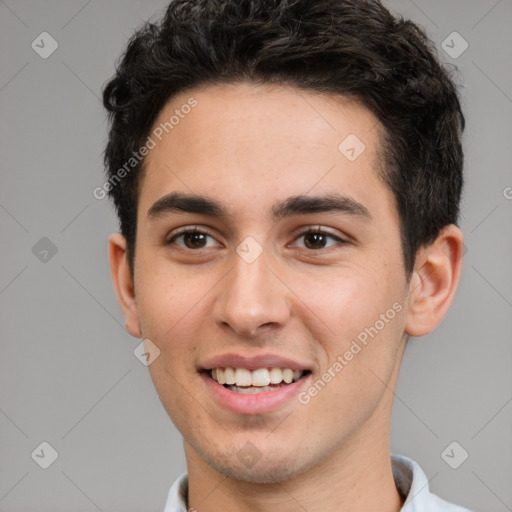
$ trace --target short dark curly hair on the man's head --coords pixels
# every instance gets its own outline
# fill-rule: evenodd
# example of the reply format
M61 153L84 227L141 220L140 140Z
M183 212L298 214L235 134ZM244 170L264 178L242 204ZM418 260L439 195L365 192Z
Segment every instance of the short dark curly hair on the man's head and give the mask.
M457 223L465 121L425 32L377 0L173 0L159 23L133 35L103 90L104 190L132 272L144 160L123 179L116 173L174 95L242 81L355 98L380 120L380 173L395 198L410 277L417 250Z

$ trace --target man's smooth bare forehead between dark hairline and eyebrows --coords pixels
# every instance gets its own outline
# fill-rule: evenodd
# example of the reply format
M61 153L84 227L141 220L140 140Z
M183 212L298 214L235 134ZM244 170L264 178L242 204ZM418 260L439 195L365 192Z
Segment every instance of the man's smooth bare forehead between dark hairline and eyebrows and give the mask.
M220 196L233 214L254 202L263 213L276 197L308 193L342 193L364 203L375 187L385 188L378 176L381 131L355 101L290 86L243 83L180 93L154 123L140 210L147 213L173 190Z

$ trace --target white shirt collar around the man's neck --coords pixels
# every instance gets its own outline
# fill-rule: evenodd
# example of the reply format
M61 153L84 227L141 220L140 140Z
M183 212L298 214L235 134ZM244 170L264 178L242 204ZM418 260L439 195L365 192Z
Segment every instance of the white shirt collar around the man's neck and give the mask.
M391 454L391 466L398 492L407 496L400 512L471 512L432 494L427 476L412 459ZM188 478L183 473L169 490L164 512L187 512L187 493Z

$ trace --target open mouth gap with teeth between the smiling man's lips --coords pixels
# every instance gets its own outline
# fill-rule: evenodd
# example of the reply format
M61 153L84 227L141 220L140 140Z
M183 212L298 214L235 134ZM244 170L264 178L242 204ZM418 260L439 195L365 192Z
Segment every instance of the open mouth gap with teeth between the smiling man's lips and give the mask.
M306 375L310 370L292 370L291 368L213 368L206 371L207 375L226 389L235 393L255 394L266 393L286 387Z

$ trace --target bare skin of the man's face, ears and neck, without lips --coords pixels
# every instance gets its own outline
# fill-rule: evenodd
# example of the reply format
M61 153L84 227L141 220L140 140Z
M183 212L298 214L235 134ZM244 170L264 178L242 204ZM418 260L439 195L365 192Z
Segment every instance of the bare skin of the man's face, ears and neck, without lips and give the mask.
M398 511L393 391L407 336L432 331L453 299L462 234L447 226L418 252L407 281L398 214L378 173L383 128L358 103L288 86L210 85L172 98L155 126L191 96L197 106L145 162L133 276L123 237L110 239L127 329L160 349L149 371L184 438L189 507ZM365 144L354 161L338 150L349 134ZM171 192L208 196L228 216L148 216ZM290 196L329 193L369 216L271 216ZM186 237L166 243L196 226L209 235L199 248ZM345 242L315 241L304 235L311 228ZM262 248L252 263L236 251L249 236ZM393 304L394 318L307 404L236 414L212 400L198 373L213 356L271 353L307 364L315 381ZM260 456L250 467L237 456L246 443Z

